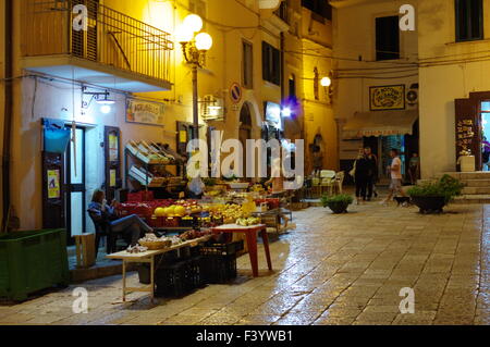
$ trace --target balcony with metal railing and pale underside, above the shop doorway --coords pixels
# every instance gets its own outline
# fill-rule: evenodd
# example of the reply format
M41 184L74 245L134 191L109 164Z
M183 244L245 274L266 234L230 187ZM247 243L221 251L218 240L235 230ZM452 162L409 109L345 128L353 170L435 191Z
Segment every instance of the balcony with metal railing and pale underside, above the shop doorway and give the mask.
M77 13L87 9L86 29ZM128 92L170 90L170 34L96 0L23 0L23 67Z

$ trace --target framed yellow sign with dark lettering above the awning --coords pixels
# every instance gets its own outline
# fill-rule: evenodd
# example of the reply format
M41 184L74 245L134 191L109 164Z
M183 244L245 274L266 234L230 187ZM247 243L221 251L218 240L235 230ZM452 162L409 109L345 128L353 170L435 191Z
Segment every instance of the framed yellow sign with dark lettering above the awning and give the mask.
M369 88L371 111L405 110L405 85Z

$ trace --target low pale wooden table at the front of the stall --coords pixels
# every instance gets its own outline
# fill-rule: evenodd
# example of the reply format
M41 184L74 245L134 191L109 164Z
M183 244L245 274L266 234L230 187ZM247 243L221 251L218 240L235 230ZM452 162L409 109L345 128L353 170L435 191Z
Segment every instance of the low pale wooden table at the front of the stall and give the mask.
M149 293L151 296L151 301L155 299L155 257L170 252L172 250L177 250L185 247L196 247L201 243L209 240L211 236L205 236L201 238L196 238L181 245L172 246L161 250L148 250L143 253L128 253L127 251L122 251L119 253L113 253L107 256L108 259L122 260L123 262L123 302L126 301L126 295L131 293ZM126 265L128 263L148 263L150 264L150 284L142 287L127 287L126 286Z

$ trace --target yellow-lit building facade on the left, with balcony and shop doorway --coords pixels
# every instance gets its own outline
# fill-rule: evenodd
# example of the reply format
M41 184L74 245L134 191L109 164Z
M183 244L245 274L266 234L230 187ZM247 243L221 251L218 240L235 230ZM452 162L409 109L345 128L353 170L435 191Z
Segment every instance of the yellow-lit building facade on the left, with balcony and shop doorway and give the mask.
M77 5L87 9L82 29L75 29L83 23L75 21L83 13L74 12ZM131 140L185 152L194 129L193 83L176 37L191 13L203 17L213 38L198 70L199 138L216 129L223 139L278 136L310 142L310 134L326 133L324 165L334 169L330 106L307 103L315 94L313 66L320 73L331 66L318 54L311 60L304 54L305 42L317 45L307 50L328 49L331 41L322 30L330 21L308 24L304 35L307 11L299 0L13 1L10 205L20 227L90 231L86 207L95 189L134 188L124 152ZM219 112L209 114L208 106ZM284 117L280 111L274 123L271 106L292 112ZM135 109L149 111L138 117ZM70 132L65 154L44 150L52 126Z

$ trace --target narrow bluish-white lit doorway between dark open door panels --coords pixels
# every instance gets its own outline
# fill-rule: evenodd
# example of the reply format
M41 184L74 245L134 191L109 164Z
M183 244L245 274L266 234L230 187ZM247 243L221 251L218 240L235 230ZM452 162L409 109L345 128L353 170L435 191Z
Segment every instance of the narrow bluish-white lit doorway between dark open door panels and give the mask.
M69 244L73 244L73 236L82 235L86 231L86 182L85 182L85 128L72 127L72 141L66 150L64 160L64 182L66 184L65 215Z

